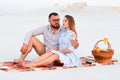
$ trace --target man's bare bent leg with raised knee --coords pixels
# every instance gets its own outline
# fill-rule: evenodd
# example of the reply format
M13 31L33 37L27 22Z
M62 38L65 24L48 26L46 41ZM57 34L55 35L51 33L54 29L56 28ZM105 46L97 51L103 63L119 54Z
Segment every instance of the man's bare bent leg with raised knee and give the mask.
M23 61L29 52L31 52L32 48L38 53L38 55L42 55L45 53L45 46L42 42L40 42L37 38L32 37L28 43L28 49L24 54L21 54L20 61Z

